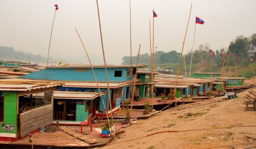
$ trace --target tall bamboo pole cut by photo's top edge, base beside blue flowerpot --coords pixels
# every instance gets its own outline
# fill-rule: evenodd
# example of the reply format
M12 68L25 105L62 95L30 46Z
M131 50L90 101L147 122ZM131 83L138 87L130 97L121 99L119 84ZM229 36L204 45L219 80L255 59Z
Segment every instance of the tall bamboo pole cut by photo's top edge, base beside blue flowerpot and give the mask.
M109 106L110 106L110 114L111 114L111 118L112 118L112 124L114 126L113 114L112 114L112 104L111 104L110 90L109 90L109 83L108 83L107 64L106 64L106 59L105 59L105 52L104 52L104 46L103 46L103 37L102 37L102 31L101 31L100 10L99 10L99 5L98 5L98 0L96 0L96 3L97 3L97 10L98 10L98 20L99 20L99 25L100 25L101 48L102 48L102 53L103 53L103 60L104 60L104 65L105 65L105 74L106 74L106 80L107 80L108 103L109 103ZM115 127L113 127L113 128L115 129ZM116 137L115 133L114 133L114 137Z

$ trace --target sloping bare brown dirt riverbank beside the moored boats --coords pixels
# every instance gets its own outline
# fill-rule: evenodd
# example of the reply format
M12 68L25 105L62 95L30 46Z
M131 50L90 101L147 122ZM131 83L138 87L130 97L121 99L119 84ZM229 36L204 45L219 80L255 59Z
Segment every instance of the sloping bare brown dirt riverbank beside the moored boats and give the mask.
M248 111L245 109L243 104L245 94L248 92L241 92L238 98L226 101L184 104L148 119L139 119L137 123L122 128L121 131L125 133L117 135L116 139L107 146L100 148L245 149L254 147L256 146L256 111L253 108Z

